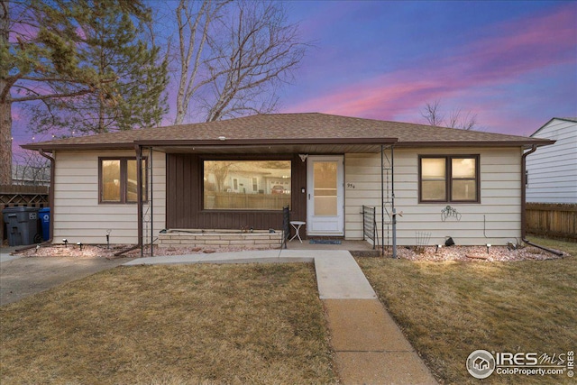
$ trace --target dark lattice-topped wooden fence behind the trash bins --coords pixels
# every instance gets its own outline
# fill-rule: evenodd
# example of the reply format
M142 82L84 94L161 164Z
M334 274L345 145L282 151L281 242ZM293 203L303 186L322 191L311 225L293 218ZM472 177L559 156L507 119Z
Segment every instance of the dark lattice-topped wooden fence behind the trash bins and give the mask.
M0 185L0 243L5 239L2 210L6 207L48 207L48 187Z

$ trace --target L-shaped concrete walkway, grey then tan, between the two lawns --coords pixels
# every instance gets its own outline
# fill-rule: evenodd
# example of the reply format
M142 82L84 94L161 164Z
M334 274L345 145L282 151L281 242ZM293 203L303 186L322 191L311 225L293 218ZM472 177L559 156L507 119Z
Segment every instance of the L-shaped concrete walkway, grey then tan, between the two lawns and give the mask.
M343 384L436 384L350 252L267 250L141 258L124 265L314 261Z

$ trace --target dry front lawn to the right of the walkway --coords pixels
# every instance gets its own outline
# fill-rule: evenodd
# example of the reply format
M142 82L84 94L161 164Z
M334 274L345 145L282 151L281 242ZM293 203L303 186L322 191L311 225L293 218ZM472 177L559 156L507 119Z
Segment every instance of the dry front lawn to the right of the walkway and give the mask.
M442 383L574 383L557 376L476 380L470 353L577 352L577 243L535 239L571 257L549 261L360 258L381 301ZM574 370L573 370L574 371Z

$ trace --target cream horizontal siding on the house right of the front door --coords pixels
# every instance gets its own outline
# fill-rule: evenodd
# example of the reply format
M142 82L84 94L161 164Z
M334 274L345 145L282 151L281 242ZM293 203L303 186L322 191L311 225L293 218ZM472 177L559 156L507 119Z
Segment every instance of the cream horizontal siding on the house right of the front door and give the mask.
M447 204L418 203L419 155L480 155L481 204L450 204L461 220L441 218ZM395 149L395 206L398 245L417 243L416 233L430 233L429 244L505 244L521 235L521 149ZM380 212L380 154L345 156L345 236L362 239L362 205ZM483 224L483 217L485 225ZM380 217L378 218L380 227ZM387 242L386 242L387 244Z

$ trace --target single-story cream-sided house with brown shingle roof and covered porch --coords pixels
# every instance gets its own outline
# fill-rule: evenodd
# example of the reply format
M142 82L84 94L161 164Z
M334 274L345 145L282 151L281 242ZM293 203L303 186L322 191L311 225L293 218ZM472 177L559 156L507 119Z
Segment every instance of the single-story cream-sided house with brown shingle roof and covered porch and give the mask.
M521 237L523 154L551 143L313 113L252 115L23 147L54 158L57 243L103 243L107 230L111 243L137 243L150 228L154 234L280 229L287 203L292 220L307 222L301 234L360 240L362 206L376 206L380 214L385 202L385 217L377 221L386 227L385 244L394 207L402 211L399 245L416 244L419 233L429 233L431 244L450 236L473 245ZM242 167L230 168L241 161ZM139 196L142 206L136 204Z

